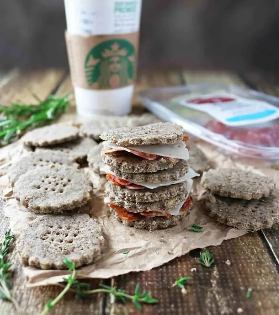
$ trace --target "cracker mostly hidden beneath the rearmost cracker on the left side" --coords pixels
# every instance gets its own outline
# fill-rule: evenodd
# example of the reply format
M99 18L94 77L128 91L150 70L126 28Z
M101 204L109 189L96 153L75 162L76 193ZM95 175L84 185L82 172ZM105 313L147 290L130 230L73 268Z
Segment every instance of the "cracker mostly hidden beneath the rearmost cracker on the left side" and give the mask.
M90 138L78 138L56 146L48 146L46 148L38 148L37 151L52 150L64 153L71 161L82 163L86 160L90 149L97 145L97 142Z

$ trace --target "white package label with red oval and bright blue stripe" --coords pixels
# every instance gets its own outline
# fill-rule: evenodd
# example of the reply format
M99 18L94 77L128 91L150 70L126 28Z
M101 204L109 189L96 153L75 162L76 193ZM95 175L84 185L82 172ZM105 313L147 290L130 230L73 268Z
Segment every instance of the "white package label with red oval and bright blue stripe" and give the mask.
M242 98L233 94L207 94L189 97L182 105L206 112L227 126L265 123L279 117L279 108L261 100Z

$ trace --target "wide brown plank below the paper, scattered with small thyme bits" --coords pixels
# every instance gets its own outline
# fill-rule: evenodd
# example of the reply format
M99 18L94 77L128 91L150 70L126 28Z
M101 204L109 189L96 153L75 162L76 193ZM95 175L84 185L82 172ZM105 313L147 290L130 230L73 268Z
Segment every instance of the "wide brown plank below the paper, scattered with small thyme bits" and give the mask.
M200 266L195 257L199 251L193 251L148 272L119 276L115 284L128 293L133 293L137 283L152 292L160 302L144 306L145 315L238 314L240 308L245 315L278 314L279 275L257 233L225 241L210 251L216 261L211 268ZM191 272L192 268L196 271ZM172 284L186 276L190 280L184 295ZM250 299L246 298L248 288L252 288ZM142 314L132 304L114 304L111 309L115 315Z

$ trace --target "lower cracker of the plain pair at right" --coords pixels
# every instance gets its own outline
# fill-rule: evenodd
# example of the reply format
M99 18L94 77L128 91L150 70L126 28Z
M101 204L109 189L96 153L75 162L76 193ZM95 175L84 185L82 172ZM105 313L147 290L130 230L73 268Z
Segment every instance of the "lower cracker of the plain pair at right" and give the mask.
M279 195L242 200L206 193L202 199L205 212L218 222L242 230L257 231L279 222Z

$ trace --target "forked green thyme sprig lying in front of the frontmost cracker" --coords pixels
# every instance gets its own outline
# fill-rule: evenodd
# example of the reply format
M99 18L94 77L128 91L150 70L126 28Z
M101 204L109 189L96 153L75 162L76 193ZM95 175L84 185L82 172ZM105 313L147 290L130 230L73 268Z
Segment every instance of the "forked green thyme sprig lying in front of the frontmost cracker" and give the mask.
M90 290L89 284L79 282L75 278L76 270L75 270L74 263L68 258L65 258L63 262L68 267L68 270L72 272L68 278L64 279L64 281L67 282L67 285L63 289L63 291L53 301L49 301L46 304L44 311L41 312L40 315L45 315L49 311L49 309L53 308L53 306L55 306L55 304L61 300L63 295L65 295L65 293L68 290L75 291L76 298L88 297L91 294L99 293L99 292L109 293L109 294L114 295L116 300L121 301L122 303L126 303L127 300L131 300L139 310L142 310L141 303L148 303L148 304L158 303L158 301L151 296L150 292L147 292L146 290L143 290L141 292L139 284L137 284L136 286L134 295L129 295L125 293L125 290L116 289L116 288L110 287L108 285L103 285L103 284L99 284L102 288Z

